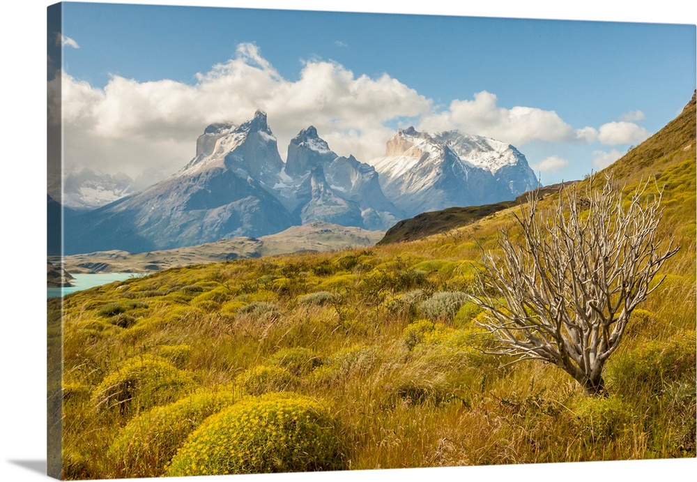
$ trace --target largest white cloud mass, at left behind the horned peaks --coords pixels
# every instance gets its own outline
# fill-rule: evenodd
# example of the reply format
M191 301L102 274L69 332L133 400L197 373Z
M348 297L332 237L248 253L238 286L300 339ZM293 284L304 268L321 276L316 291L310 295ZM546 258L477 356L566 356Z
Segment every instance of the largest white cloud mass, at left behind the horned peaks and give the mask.
M206 125L242 123L257 109L267 112L283 157L290 139L313 124L333 150L361 160L384 151L392 135L386 122L431 110L430 100L389 75L356 76L335 62L307 61L290 82L249 43L193 85L114 75L98 89L63 73L62 89L66 163L118 166L131 176L143 165L174 172Z

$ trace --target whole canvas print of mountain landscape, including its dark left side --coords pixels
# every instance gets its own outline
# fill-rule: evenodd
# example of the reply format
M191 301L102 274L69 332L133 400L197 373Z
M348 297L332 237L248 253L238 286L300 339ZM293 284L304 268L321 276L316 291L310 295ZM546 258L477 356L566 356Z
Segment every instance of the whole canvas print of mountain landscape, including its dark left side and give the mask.
M48 472L696 456L694 25L48 8Z

